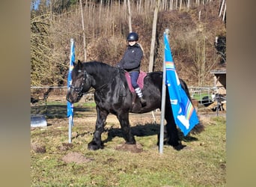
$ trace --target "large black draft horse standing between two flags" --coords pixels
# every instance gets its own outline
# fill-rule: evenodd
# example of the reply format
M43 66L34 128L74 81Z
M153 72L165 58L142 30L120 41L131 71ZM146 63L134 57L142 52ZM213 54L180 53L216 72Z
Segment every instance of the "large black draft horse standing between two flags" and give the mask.
M124 70L112 67L102 62L91 61L82 63L78 61L72 71L72 84L67 91L69 102L79 102L82 95L94 88L94 99L97 109L97 121L93 140L88 144L89 150L103 148L101 134L104 131L106 117L109 113L115 114L121 124L126 144L135 144L135 138L129 126L129 112L142 114L161 108L162 97L162 72L147 73L144 78L144 88L142 89L147 105L141 107L141 102L135 93L129 91ZM180 79L182 88L189 96L186 83ZM177 126L171 111L170 97L166 89L165 120L167 143L177 150L182 147L178 137ZM135 99L134 99L135 98ZM190 96L189 96L190 98Z

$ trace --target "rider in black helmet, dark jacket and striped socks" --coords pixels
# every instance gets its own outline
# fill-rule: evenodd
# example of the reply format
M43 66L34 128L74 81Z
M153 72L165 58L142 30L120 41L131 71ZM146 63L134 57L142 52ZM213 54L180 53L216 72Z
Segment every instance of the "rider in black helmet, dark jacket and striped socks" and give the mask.
M143 50L141 45L138 43L138 34L135 32L129 33L127 36L127 42L127 50L124 52L124 56L117 66L129 72L132 87L134 88L135 93L138 95L141 105L144 106L146 105L146 100L143 99L141 88L139 88L137 84L141 67L141 59L143 58Z

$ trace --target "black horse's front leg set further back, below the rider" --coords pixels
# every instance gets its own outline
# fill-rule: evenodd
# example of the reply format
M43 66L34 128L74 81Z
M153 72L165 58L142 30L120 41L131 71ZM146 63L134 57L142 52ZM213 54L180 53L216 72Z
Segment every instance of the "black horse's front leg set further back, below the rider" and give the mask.
M118 120L121 124L121 129L124 134L124 139L126 144L136 144L135 138L132 135L131 128L129 126L129 112L117 115Z

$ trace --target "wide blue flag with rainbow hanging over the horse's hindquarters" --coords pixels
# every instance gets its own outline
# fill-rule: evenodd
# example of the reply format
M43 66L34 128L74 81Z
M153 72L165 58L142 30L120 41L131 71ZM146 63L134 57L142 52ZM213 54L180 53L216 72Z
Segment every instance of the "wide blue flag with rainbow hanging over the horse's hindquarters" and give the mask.
M184 135L187 135L199 123L199 120L189 97L183 88L181 88L166 34L164 34L164 43L166 85L168 86L170 95L172 113L174 114L174 120L177 126L179 126Z

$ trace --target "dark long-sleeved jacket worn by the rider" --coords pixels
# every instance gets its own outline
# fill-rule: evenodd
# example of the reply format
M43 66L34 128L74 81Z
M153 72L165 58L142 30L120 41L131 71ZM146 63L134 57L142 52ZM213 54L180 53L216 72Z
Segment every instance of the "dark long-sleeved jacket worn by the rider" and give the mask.
M118 63L118 66L124 68L128 72L138 71L141 67L141 59L143 57L143 52L138 43L135 43L134 46L128 46L126 52L121 61Z

